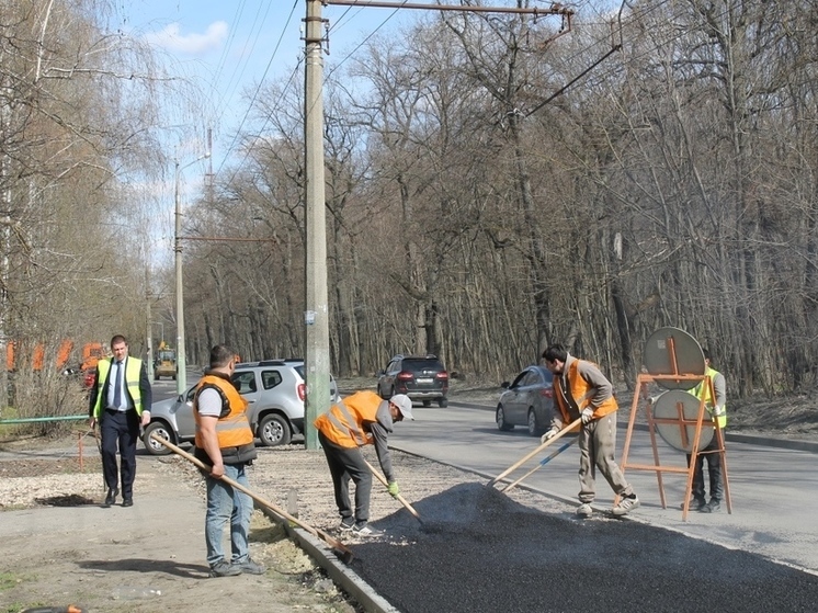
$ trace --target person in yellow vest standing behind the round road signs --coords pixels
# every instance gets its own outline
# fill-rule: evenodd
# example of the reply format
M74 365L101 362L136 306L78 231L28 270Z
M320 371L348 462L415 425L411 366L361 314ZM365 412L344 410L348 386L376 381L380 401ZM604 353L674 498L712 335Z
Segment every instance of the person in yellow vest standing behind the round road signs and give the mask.
M711 353L708 350L704 350L704 364L706 367L705 375L711 377L713 382L713 394L711 394L709 386L705 385L705 381L700 382L693 389L690 390L693 396L701 400L704 400L704 406L707 409L707 413L711 419L718 425L720 430L724 430L727 425L727 409L725 404L727 402L727 385L725 377L722 373L711 366ZM711 442L705 447L700 450L696 454L696 466L693 470L693 500L691 502L691 509L702 511L703 513L714 513L722 508L722 498L724 497L724 475L722 473L722 452L719 447L718 439L715 433ZM688 454L688 466L690 466L692 454ZM704 461L707 461L707 474L711 483L711 499L707 501L707 492L704 488Z

